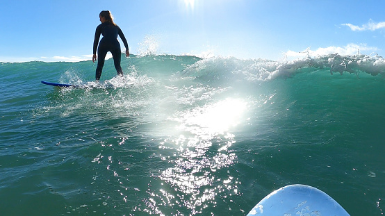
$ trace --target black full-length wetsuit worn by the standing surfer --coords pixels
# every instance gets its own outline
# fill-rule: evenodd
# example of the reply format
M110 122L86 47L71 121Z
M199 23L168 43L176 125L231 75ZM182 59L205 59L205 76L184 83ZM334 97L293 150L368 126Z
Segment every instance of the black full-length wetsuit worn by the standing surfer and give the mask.
M103 35L103 38L100 38L100 34ZM122 51L120 50L120 43L117 40L117 35L120 36L122 42L124 43L124 47L129 49L129 44L127 44L126 38L124 38L124 34L119 26L115 26L110 22L104 22L97 26L95 31L95 40L94 40L94 54L97 51L97 69L96 76L97 80L100 79L101 71L104 66L104 59L106 58L106 54L110 51L113 54L113 60L115 69L118 75L122 75L122 67L120 67L120 60L122 58ZM97 43L99 42L99 48L97 47Z

